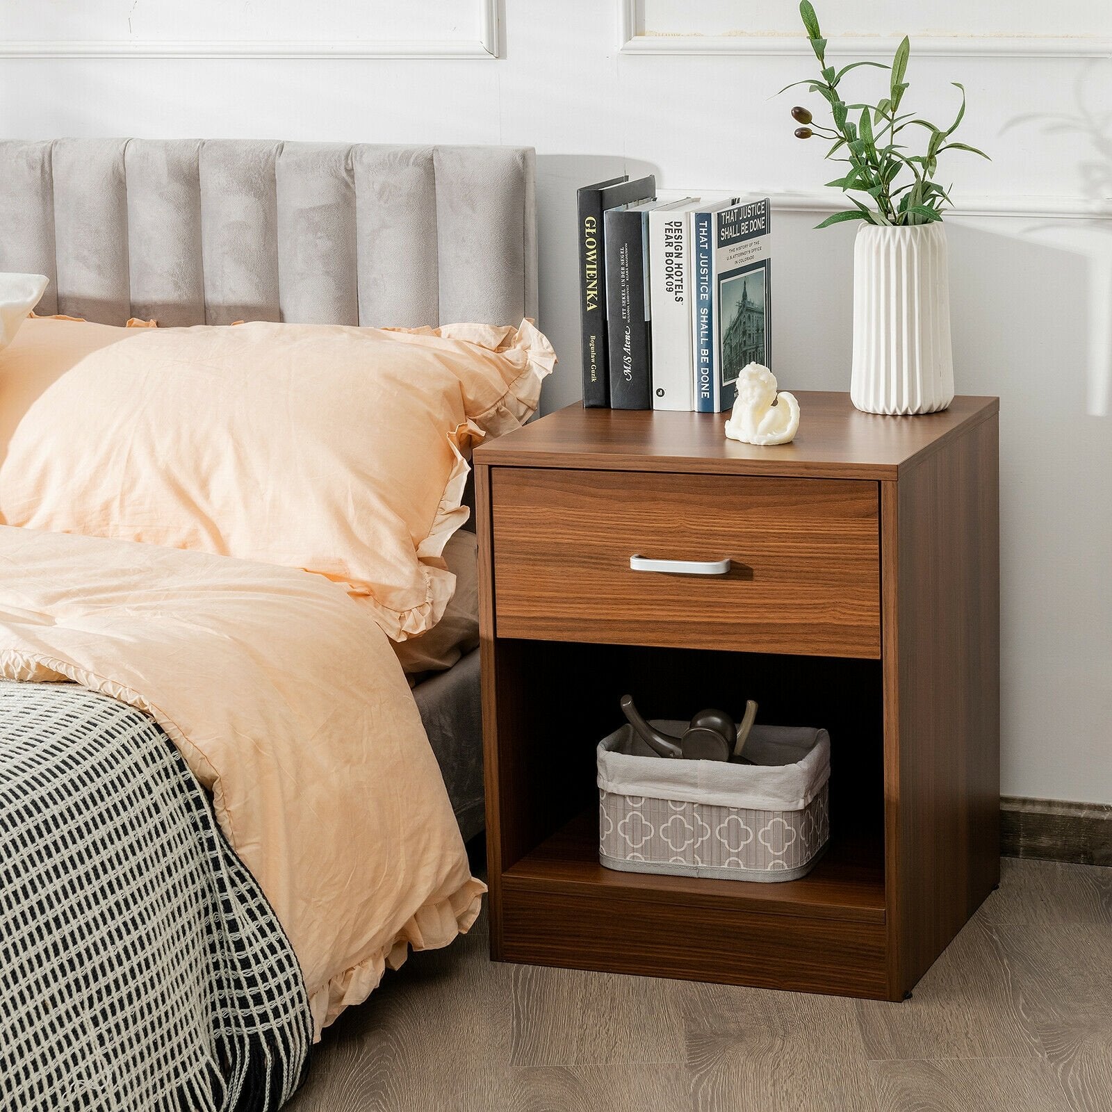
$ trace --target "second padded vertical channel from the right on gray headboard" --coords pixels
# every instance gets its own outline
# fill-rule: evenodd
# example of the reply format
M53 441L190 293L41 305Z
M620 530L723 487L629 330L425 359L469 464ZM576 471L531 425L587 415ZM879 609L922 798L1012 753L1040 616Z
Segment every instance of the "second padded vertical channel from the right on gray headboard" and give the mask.
M431 147L351 148L359 324L437 325L436 171Z

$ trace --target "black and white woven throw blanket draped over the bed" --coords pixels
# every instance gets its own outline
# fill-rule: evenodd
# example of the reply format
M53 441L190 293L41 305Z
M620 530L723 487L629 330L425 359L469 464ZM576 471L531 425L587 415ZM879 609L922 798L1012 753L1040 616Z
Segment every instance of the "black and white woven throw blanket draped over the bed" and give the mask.
M0 681L0 1109L276 1109L311 1039L297 959L166 734Z

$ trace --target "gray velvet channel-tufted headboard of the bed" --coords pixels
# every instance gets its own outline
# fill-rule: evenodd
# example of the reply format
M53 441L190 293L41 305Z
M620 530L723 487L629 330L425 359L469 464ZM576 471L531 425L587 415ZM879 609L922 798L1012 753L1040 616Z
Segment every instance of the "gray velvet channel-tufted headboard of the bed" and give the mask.
M105 324L517 324L534 153L251 140L0 141L0 270Z

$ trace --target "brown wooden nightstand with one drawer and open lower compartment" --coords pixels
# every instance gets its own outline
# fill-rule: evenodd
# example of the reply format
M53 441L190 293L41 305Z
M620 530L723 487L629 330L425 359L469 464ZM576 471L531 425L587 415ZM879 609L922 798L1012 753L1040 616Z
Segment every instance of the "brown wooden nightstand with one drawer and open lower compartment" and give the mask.
M780 447L573 406L475 453L495 960L900 1000L997 883L997 401L798 397ZM825 726L815 870L603 868L595 745L627 691Z

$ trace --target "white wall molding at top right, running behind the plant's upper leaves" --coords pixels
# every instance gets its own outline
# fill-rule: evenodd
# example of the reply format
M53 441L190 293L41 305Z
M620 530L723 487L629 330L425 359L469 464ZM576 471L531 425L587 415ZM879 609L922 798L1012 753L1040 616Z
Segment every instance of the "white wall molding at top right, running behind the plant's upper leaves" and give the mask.
M802 34L643 34L641 0L617 0L618 52L623 54L763 54L811 56ZM891 57L898 46L895 36L832 39L832 56ZM1112 58L1112 39L1080 36L1016 36L1011 38L966 34L916 34L917 57L952 58Z

